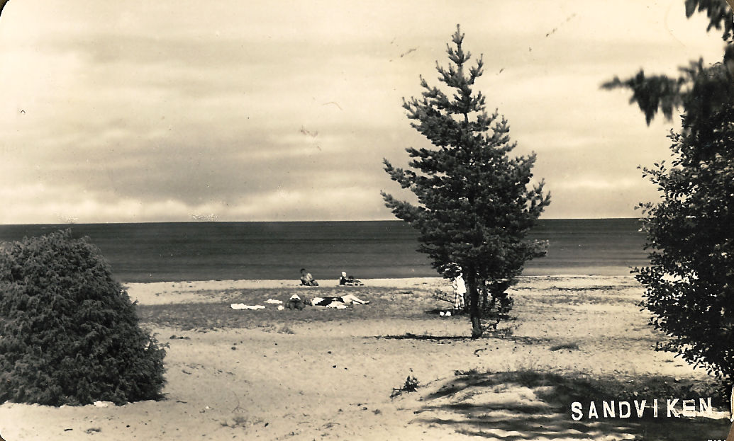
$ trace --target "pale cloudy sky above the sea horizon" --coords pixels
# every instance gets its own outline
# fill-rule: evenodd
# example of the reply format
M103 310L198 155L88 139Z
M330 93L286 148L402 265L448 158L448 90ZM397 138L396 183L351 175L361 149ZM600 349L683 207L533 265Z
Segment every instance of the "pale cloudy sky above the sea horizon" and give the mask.
M10 0L0 16L0 223L395 219L383 169L461 25L475 90L537 154L542 218L633 218L648 127L614 75L677 75L724 43L683 0Z

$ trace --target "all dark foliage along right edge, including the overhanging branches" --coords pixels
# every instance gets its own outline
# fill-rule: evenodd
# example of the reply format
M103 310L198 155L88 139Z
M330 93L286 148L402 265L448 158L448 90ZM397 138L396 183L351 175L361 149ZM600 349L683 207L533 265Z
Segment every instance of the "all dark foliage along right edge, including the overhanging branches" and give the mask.
M727 1L730 4L734 2ZM722 62L681 67L680 78L614 78L602 87L633 90L647 123L660 110L667 119L683 106L681 133L671 133L672 168L643 168L662 201L640 204L647 218L650 267L636 268L646 286L642 307L651 324L672 337L658 350L734 381L734 45L733 14L723 0L686 0L686 15L706 12L707 28L722 29Z

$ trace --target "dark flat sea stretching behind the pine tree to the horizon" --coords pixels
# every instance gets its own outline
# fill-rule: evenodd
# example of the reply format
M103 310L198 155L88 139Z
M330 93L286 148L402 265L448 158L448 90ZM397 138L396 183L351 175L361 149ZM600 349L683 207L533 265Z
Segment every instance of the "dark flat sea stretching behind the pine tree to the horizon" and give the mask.
M548 255L523 275L629 275L649 264L638 219L541 219L529 239ZM440 277L416 251L403 221L185 222L0 225L0 241L59 229L89 237L121 283L208 280L316 280Z

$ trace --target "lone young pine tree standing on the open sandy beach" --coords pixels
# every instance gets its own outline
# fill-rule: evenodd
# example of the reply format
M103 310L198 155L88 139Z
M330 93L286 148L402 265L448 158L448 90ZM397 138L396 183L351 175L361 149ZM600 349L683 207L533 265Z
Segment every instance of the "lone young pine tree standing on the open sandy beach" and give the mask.
M462 48L459 26L455 48L447 45L448 70L437 64L439 81L453 94L431 87L421 77L423 98L403 101L411 126L436 147L407 148L409 166L385 171L402 188L418 196L419 205L399 201L384 191L385 204L397 218L421 232L418 251L446 277L462 273L469 297L472 336L482 336L480 292L506 296L528 259L545 255L545 243L525 240L550 204L543 182L530 185L535 155L509 157L506 119L487 114L482 92L472 87L482 75L482 57L468 67L470 53Z

